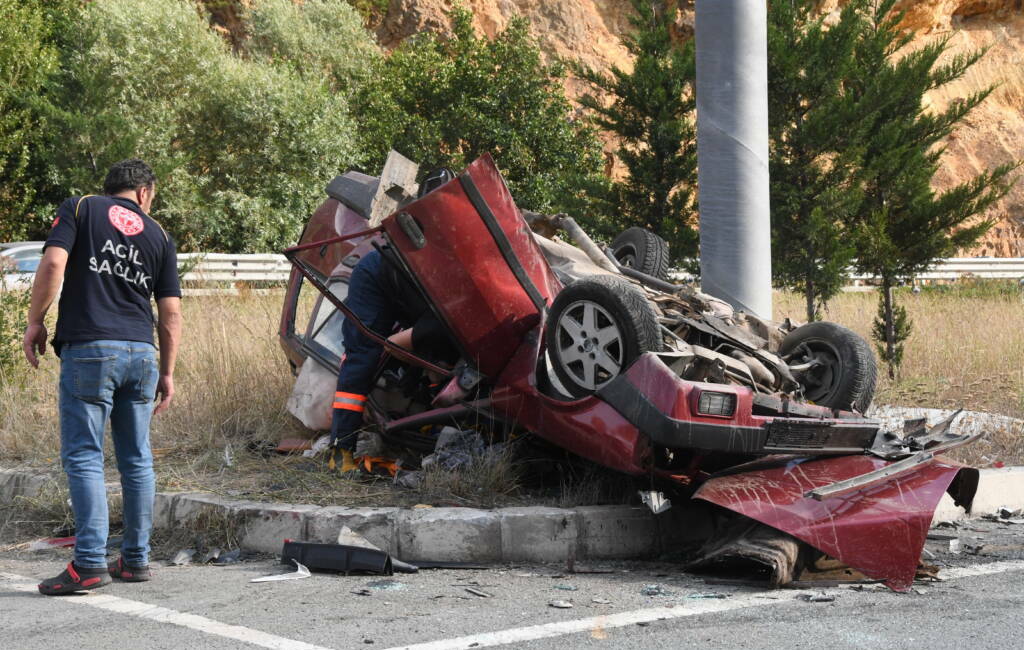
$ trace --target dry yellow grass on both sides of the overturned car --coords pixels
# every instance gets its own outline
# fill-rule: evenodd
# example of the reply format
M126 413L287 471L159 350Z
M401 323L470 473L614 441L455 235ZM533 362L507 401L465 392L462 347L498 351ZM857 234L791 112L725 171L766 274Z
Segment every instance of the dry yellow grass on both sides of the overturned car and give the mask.
M303 434L285 409L292 375L276 337L282 297L279 292L184 301L177 397L154 423L162 489L325 505L494 505L537 497L517 489L519 474L508 460L497 467L471 468L463 476L429 474L421 490L404 491L392 489L386 480L339 480L324 472L318 461L262 458L249 451L260 442ZM926 291L901 294L900 299L914 332L902 378L894 382L883 374L877 403L963 406L1024 418L1024 302L1019 295ZM778 294L775 304L776 316L802 313L800 296ZM844 294L826 317L867 337L874 312L874 294ZM56 467L57 370L50 354L38 372L0 377L4 466ZM225 462L225 448L230 464ZM994 432L972 448L964 452L965 460L1024 462L1019 430ZM607 490L599 489L604 479L579 478L564 481L540 501L606 502L602 492ZM63 511L53 510L46 517L56 521Z

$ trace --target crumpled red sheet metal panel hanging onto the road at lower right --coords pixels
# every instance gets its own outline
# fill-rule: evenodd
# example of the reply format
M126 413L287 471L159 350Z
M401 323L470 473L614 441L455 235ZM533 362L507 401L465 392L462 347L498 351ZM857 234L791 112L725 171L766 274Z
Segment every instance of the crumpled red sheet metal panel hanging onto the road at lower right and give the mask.
M895 591L906 591L939 500L949 488L954 501L970 510L977 470L938 458L857 491L821 501L806 495L887 465L869 456L773 457L710 479L694 499L786 532Z

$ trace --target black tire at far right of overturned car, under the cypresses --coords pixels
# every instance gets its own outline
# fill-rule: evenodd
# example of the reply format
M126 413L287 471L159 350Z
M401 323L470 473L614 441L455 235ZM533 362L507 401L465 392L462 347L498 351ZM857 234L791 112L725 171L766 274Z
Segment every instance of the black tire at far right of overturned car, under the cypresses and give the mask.
M879 374L874 352L843 326L822 320L797 328L782 340L779 355L793 355L790 365L821 361L816 369L796 374L809 401L858 413L871 405Z

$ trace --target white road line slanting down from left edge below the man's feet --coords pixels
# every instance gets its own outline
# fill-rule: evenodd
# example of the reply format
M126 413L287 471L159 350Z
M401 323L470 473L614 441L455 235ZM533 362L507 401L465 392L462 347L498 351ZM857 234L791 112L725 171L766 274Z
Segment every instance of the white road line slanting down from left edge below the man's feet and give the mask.
M10 587L18 592L32 593L38 591L35 580L14 573L0 573L0 584ZM40 598L44 597L40 596ZM301 641L285 639L284 637L278 637L258 630L250 630L242 625L230 625L205 616L186 614L166 607L158 607L148 603L128 600L127 598L118 598L117 596L89 594L85 597L58 598L65 603L87 605L118 614L127 614L137 618L146 618L157 622L180 625L181 627L202 632L206 635L241 641L261 648L271 648L273 650L329 650L323 646L314 646Z

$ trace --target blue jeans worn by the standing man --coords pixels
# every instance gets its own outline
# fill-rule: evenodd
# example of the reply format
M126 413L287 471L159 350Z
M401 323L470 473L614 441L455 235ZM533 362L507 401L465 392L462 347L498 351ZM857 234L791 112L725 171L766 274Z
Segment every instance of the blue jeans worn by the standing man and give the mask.
M89 341L60 350L60 462L75 513L77 566L106 566L108 420L124 497L122 557L129 566L148 564L156 482L150 420L159 376L157 350L148 343Z

